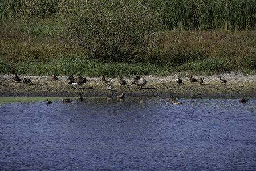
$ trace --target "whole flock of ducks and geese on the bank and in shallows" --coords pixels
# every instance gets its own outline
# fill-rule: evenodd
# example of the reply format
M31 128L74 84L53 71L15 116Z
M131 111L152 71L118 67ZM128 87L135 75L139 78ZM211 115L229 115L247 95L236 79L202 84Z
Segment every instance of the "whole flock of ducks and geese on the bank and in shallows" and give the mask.
M17 74L15 74L13 76L13 79L16 81L16 82L21 82L22 80L17 76ZM51 76L51 79L56 82L56 80L58 80L58 77L55 76L55 75L52 75ZM86 78L83 78L82 76L78 76L77 78L74 78L74 76L70 75L68 77L68 79L70 80L68 82L68 84L71 84L71 85L77 85L78 86L78 89L79 89L79 86L83 85L84 83L86 83L87 79ZM221 76L218 77L218 79L220 80L220 83L221 84L225 84L227 83L227 80L225 79L221 79ZM108 89L109 92L111 92L111 90L113 89L113 86L111 84L109 84L106 79L105 79L105 76L104 75L101 75L100 76L100 80L102 82L102 84ZM29 83L32 83L30 79L28 78L23 78L23 82L26 83L26 84L29 84ZM191 75L190 76L190 82L191 83L204 83L204 80L202 80L202 78L200 79L195 79L193 78L193 76ZM126 86L127 85L127 82L123 79L123 78L120 78L119 79L119 83L122 85L122 86ZM182 80L180 78L177 78L176 79L176 83L178 84L181 84L183 83ZM128 85L128 86L131 86L131 85L137 85L140 86L141 89L143 89L143 86L145 86L145 84L147 84L147 81L144 79L144 78L141 78L140 76L136 76L135 78L133 78L133 82ZM117 95L117 98L119 99L122 99L124 97L124 93L121 93L120 95ZM80 98L79 98L80 101L83 101L83 97L82 95L80 94ZM170 99L168 98L168 100L170 101L170 104L182 104L182 102L180 101L177 101L177 99ZM70 99L62 99L62 103L69 103L71 100ZM239 100L241 103L246 103L248 100L245 99L245 98L242 98ZM52 102L49 101L48 99L46 100L46 104L51 104Z

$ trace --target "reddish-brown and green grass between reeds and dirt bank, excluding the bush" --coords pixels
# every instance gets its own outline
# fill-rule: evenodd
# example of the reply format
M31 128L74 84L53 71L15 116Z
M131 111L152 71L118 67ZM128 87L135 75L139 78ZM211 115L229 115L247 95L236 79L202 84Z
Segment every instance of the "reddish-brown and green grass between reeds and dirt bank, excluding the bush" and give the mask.
M60 42L61 27L54 18L0 21L0 73L116 77L256 70L256 31L159 31L152 50L136 62L100 64Z

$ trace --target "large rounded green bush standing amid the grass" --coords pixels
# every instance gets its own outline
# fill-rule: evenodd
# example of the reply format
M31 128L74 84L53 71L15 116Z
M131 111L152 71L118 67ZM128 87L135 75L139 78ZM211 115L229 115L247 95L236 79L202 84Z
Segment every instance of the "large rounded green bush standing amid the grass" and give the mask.
M88 2L67 19L66 40L100 63L132 62L147 53L156 16L126 1Z

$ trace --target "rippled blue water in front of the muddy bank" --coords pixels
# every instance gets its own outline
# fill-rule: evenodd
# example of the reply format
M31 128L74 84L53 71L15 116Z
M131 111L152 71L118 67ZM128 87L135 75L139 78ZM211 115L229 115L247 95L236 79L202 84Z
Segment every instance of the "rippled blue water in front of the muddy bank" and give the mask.
M256 99L0 104L0 170L256 170Z

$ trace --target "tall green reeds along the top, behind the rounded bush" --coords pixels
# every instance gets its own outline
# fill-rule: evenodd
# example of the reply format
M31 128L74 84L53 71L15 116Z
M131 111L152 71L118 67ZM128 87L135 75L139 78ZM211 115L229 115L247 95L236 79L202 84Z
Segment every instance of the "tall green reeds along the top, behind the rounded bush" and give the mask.
M119 6L121 0L111 2ZM0 18L64 17L69 11L86 6L87 3L108 4L107 1L96 0L2 0ZM159 26L168 29L254 30L256 24L256 0L127 0L125 3L150 6L153 13L159 16Z

